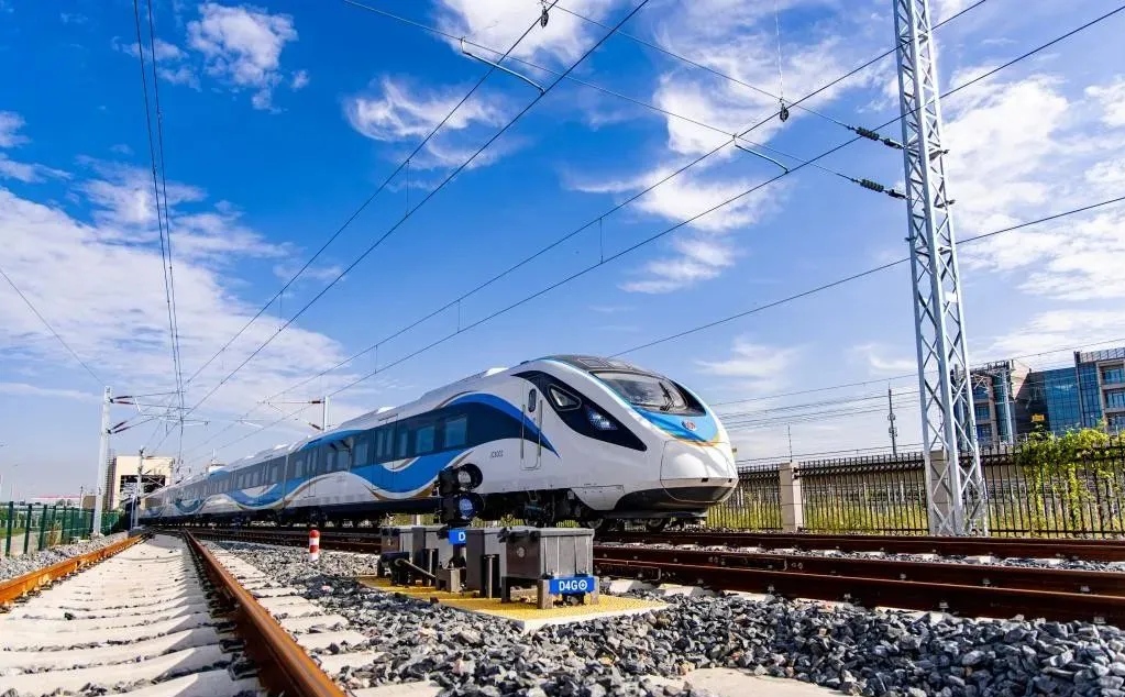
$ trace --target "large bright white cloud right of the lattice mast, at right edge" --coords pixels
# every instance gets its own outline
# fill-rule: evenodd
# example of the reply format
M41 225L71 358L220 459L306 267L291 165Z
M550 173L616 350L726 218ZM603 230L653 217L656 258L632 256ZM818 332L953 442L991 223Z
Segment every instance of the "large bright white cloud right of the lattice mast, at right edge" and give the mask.
M1102 127L1116 87L1068 97L1058 78L974 90L946 127L961 236L1006 227L1119 194L1125 137ZM1053 300L1125 297L1125 209L1112 207L965 245L970 271L1018 272L1025 293Z

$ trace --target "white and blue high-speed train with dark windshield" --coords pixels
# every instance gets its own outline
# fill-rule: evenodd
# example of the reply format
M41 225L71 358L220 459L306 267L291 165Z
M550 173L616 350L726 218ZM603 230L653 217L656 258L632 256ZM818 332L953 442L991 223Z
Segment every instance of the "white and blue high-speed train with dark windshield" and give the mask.
M150 523L376 521L436 509L444 468L475 464L484 519L590 527L702 517L738 483L730 438L683 384L618 360L490 369L146 496Z

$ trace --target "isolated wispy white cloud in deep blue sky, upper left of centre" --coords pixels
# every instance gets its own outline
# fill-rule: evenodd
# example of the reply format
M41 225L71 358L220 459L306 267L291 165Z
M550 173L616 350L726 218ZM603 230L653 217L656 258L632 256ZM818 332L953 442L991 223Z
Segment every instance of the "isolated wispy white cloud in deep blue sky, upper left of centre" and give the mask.
M414 89L405 81L385 75L368 93L348 99L344 115L352 128L374 141L413 144L429 135L466 92L467 88ZM482 128L490 134L504 120L501 105L478 92L426 143L425 156L416 157L411 165L420 169L460 165L487 141ZM492 164L518 146L519 141L511 138L493 143L471 166Z

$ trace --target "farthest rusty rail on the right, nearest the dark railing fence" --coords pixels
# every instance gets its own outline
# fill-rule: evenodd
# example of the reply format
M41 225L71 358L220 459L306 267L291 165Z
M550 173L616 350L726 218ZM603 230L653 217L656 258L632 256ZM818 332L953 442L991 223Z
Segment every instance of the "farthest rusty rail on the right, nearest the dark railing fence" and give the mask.
M699 544L764 549L839 550L908 554L1062 558L1125 561L1125 542L1035 537L935 537L928 535L813 535L804 533L598 532L598 542Z

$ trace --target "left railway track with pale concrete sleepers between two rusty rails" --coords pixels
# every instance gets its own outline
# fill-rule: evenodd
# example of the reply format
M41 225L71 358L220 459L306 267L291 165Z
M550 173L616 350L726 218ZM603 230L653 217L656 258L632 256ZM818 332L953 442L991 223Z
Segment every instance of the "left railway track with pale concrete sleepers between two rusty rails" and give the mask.
M133 537L11 579L0 606L0 694L344 695L189 534Z

